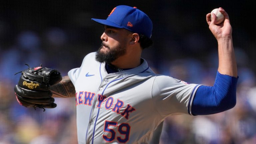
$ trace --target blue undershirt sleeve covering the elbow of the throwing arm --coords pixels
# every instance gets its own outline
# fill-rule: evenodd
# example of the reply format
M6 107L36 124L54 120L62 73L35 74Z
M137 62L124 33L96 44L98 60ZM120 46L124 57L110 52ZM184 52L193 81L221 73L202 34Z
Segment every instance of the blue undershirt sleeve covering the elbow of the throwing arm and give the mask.
M236 84L238 78L217 72L213 86L200 86L195 94L191 113L208 115L223 112L236 105Z

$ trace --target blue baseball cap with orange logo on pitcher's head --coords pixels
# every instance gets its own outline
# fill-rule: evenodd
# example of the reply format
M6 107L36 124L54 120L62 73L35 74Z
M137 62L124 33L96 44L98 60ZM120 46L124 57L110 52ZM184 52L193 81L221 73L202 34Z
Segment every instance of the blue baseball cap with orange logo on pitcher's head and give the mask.
M106 20L95 18L92 18L92 20L102 25L124 28L134 33L144 34L148 38L151 38L152 35L152 21L136 7L120 5L111 11Z

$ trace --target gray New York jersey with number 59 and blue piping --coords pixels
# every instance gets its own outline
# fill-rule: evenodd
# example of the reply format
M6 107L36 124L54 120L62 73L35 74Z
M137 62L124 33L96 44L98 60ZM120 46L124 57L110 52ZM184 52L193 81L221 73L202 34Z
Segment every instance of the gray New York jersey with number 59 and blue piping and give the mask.
M108 74L95 54L68 72L76 89L79 144L148 144L166 117L191 114L199 85L155 74L146 60Z

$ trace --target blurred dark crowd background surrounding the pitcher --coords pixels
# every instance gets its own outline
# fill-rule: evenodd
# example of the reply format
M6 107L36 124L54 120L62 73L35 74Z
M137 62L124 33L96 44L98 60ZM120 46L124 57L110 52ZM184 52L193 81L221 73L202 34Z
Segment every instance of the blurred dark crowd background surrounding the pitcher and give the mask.
M91 18L107 18L117 5L136 6L153 21L154 45L145 58L155 72L189 83L213 85L217 41L205 16L223 7L233 28L238 65L237 104L208 115L170 116L161 144L256 143L255 4L205 0L24 0L0 1L0 144L76 144L75 99L56 98L57 108L20 106L13 88L23 69L58 69L62 76L79 67L100 47L103 27Z

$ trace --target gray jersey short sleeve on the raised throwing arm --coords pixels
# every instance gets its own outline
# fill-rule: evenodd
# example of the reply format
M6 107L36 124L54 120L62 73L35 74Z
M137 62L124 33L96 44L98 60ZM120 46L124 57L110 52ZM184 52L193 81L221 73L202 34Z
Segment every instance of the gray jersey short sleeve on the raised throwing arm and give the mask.
M169 76L156 76L152 85L154 107L163 117L181 113L190 114L193 97L199 86Z

